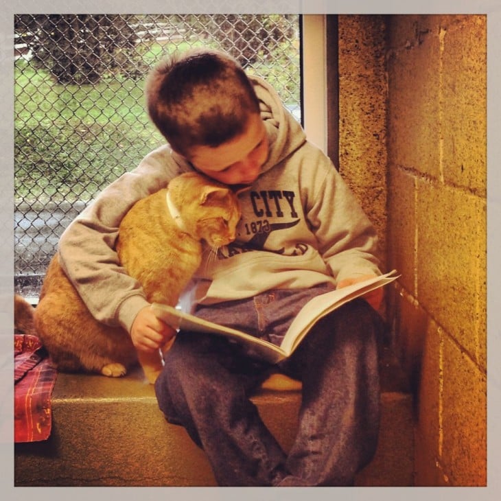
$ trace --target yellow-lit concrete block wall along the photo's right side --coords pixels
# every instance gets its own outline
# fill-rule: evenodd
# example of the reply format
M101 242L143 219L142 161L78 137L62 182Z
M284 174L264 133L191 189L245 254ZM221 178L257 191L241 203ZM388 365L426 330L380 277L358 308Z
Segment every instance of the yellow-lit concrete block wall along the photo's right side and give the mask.
M417 395L416 485L482 486L486 17L388 16L388 267Z

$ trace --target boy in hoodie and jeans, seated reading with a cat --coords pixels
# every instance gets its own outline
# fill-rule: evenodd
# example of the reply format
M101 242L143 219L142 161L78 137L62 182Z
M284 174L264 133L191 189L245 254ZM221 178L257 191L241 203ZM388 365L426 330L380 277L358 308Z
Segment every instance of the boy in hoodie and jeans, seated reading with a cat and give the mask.
M137 349L176 334L152 314L113 245L134 202L189 170L246 187L237 240L200 266L183 296L196 315L279 344L312 296L380 275L369 220L266 82L203 49L156 67L145 95L169 144L105 189L60 240L62 266L98 320L122 325ZM177 334L156 397L205 450L219 485L353 485L377 442L381 299L378 290L329 314L280 364L303 385L289 454L248 399L273 368L217 336Z

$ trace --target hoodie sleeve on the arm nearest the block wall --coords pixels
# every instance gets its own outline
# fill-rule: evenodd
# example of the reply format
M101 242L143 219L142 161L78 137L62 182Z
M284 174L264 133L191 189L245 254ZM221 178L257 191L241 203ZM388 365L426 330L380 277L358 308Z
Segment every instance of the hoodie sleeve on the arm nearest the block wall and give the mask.
M377 234L358 200L331 161L316 159L308 219L318 250L336 282L361 275L381 275Z

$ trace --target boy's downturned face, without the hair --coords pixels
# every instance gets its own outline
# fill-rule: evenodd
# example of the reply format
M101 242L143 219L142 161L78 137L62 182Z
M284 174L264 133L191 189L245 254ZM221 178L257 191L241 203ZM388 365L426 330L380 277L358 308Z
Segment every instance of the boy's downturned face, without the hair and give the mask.
M256 113L242 135L215 148L196 146L189 153L189 161L206 176L226 185L250 185L268 159L266 128Z

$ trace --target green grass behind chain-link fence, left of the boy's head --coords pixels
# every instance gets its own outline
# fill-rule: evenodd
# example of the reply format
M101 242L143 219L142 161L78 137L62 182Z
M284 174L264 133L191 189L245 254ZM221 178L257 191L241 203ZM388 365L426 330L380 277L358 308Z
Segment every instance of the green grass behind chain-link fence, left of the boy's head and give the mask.
M16 200L90 200L163 143L145 113L143 81L60 85L16 65Z

